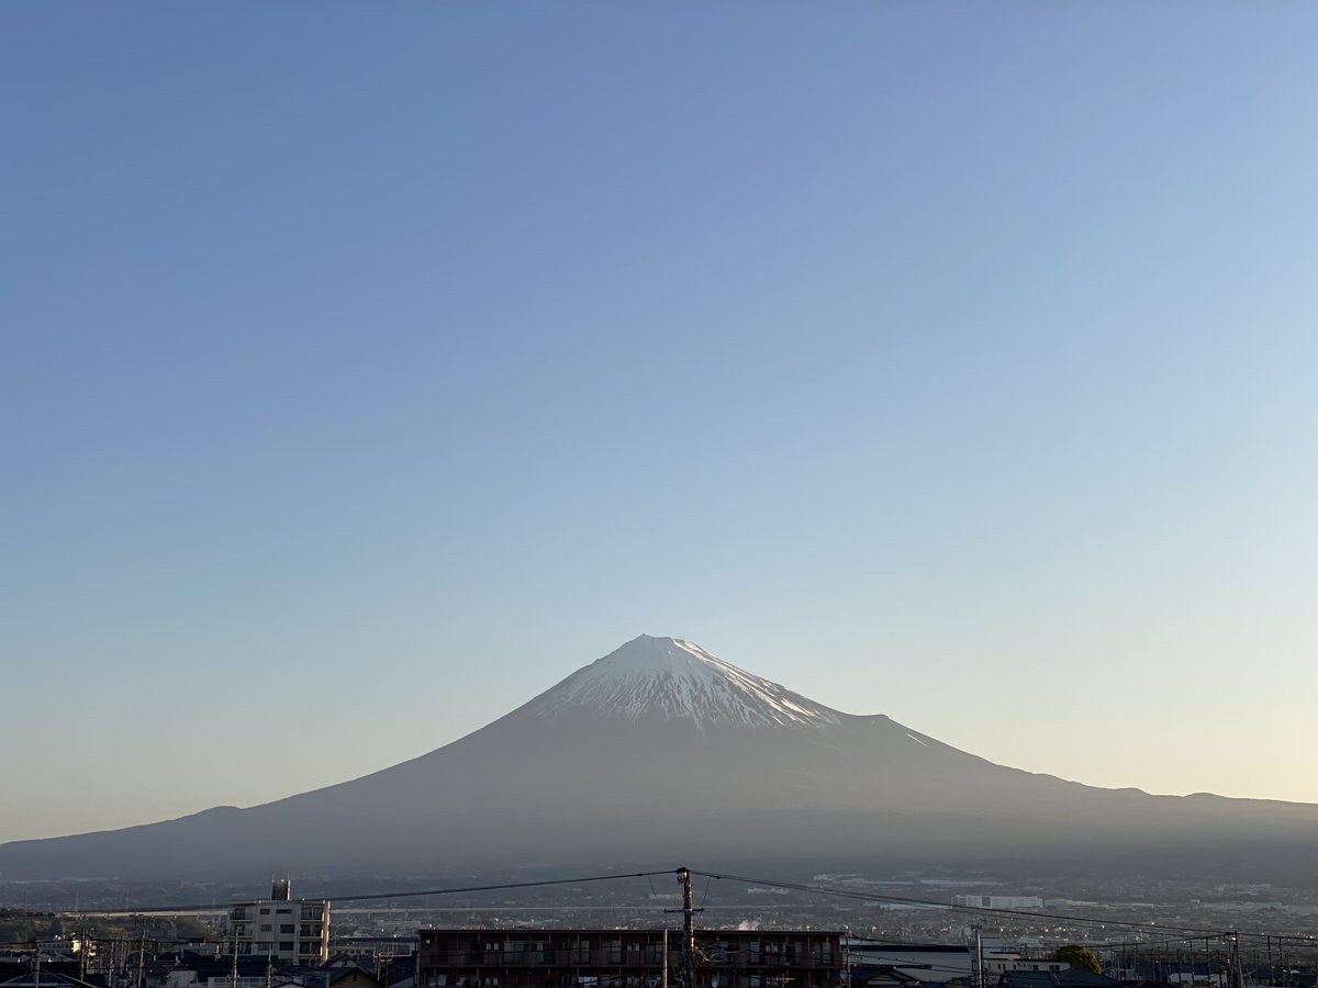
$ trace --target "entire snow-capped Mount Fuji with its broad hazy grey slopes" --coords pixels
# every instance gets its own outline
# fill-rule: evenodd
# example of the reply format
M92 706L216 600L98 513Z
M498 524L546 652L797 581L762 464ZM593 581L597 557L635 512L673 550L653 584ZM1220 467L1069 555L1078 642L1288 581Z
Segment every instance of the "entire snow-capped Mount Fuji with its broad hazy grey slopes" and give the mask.
M1102 736L1098 723L1078 725ZM248 809L0 846L0 879L764 858L1318 881L1318 806L1035 775L642 635L420 757Z

